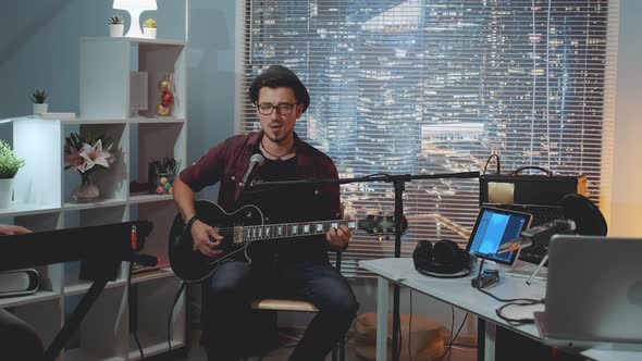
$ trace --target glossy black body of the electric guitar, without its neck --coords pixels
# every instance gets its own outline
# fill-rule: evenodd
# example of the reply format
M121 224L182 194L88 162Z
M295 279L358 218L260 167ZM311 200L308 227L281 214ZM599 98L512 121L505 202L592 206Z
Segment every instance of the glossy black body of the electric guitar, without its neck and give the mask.
M199 221L219 229L263 224L263 214L255 206L245 206L234 213L227 213L219 204L207 200L196 201L195 207ZM215 259L208 258L198 249L194 250L192 235L183 232L184 225L183 217L177 214L170 231L169 257L174 273L188 283L207 278L222 260L243 254L244 248L248 245L235 245L232 235L222 234L224 236L221 241L223 253Z

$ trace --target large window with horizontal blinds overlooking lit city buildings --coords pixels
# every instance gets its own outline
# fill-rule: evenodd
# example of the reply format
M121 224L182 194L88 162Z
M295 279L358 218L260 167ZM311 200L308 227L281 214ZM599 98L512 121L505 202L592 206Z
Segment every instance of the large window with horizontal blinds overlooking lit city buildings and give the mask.
M260 129L251 79L283 64L307 85L296 132L334 159L341 177L540 165L585 174L594 201L609 187L612 66L618 3L606 0L246 1L237 130ZM358 216L393 213L390 184L342 186ZM477 179L406 185L420 239L465 242ZM356 234L345 257L392 256L392 241ZM361 271L359 271L361 272Z

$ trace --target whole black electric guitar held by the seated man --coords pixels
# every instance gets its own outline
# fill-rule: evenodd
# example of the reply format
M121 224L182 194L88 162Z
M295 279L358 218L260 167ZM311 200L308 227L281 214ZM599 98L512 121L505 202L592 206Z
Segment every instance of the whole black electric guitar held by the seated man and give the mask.
M368 215L363 220L335 220L305 223L263 224L263 213L255 206L245 206L234 213L226 213L219 204L196 201L198 220L219 228L223 236L223 253L209 258L194 249L192 235L183 232L184 222L177 214L170 231L170 264L174 273L185 282L199 282L212 274L219 263L236 254L244 254L254 241L279 239L285 237L311 236L325 234L330 228L346 225L350 229L362 229L373 235L395 233L394 217ZM402 220L403 233L408 228L408 221Z

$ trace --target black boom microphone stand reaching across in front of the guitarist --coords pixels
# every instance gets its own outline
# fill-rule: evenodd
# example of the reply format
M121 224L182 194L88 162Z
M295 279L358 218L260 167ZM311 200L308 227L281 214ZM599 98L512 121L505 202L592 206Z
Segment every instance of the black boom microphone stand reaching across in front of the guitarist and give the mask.
M268 186L292 186L292 185L320 185L320 184L348 184L348 183L371 183L385 182L392 183L395 189L395 258L402 257L402 219L404 215L404 190L406 183L418 179L441 179L441 178L479 178L479 172L460 172L460 173L442 173L442 174L402 174L402 175L375 175L357 178L338 178L338 179L301 179L301 180L276 180L262 182L254 180L250 187ZM394 284L393 290L393 360L399 360L399 285ZM384 332L384 331L381 331Z

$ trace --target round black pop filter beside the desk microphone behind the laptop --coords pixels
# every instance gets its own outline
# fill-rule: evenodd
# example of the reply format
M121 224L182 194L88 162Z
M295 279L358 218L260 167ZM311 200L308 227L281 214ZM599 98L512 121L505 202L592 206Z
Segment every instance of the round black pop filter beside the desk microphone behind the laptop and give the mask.
M561 208L564 216L576 223L578 235L606 236L606 220L589 198L578 194L568 194L561 199Z

